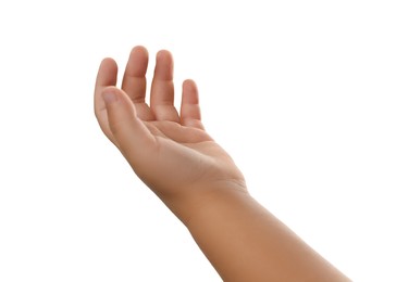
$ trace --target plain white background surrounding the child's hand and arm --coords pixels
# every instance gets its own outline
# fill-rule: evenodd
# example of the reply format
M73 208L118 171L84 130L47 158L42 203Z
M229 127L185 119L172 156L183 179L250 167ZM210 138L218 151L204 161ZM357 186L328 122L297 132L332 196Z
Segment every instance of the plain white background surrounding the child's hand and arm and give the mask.
M122 74L136 44L197 81L258 201L355 281L396 281L393 3L1 1L0 281L220 281L96 123L101 59Z

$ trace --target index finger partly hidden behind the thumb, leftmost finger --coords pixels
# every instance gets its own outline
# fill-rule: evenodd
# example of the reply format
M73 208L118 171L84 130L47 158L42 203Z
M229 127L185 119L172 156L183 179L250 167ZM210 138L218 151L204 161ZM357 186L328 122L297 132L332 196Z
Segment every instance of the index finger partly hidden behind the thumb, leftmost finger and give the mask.
M110 140L112 140L112 133L109 128L108 115L106 112L106 105L101 93L104 88L109 86L115 86L116 74L117 74L117 66L115 61L110 57L104 59L99 66L95 85L95 94L94 94L95 115L98 119L99 126L102 129L103 133Z

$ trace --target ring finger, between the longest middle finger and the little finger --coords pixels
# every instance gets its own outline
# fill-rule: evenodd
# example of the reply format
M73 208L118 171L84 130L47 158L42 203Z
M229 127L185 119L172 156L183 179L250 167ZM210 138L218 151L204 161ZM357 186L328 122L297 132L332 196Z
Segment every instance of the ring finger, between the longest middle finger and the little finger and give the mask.
M162 50L157 54L154 76L151 85L150 107L157 120L180 123L176 108L173 105L173 60L169 51Z

